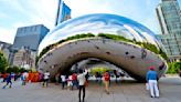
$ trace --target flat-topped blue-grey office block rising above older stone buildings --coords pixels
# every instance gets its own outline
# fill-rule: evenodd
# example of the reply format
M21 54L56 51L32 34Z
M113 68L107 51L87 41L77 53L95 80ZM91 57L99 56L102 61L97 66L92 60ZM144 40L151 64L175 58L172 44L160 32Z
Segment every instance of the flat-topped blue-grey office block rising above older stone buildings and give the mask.
M38 51L39 43L49 31L43 24L18 28L12 49L19 50L25 47L32 51Z

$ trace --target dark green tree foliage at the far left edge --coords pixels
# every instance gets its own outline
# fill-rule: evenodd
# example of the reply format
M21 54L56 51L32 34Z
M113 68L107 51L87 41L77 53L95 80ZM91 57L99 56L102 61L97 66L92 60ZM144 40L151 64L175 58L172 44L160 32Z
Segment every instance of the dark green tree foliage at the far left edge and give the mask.
M3 53L0 52L0 72L4 72L7 67L8 67L8 61L4 58Z

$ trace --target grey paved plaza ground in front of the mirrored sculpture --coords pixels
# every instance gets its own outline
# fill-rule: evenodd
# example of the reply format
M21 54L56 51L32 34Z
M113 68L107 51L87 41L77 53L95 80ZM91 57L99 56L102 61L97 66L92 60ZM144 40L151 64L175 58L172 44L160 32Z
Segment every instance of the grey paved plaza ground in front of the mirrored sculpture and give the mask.
M0 86L2 88L2 83ZM86 88L85 102L181 102L181 79L178 76L162 78L159 81L160 98L152 99L145 83L126 80L110 85L110 94L106 94L104 85L91 82ZM61 85L51 83L42 88L40 83L22 86L14 82L11 89L0 89L0 102L78 102L78 91L62 90Z

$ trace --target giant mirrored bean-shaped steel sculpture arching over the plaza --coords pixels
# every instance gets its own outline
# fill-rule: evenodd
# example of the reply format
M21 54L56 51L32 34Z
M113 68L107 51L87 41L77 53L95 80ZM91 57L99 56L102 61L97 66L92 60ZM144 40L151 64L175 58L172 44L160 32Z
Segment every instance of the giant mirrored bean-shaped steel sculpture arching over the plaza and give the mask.
M58 24L41 42L39 71L66 72L87 58L110 62L142 81L149 67L159 76L167 71L167 55L155 34L130 19L115 14L88 14Z

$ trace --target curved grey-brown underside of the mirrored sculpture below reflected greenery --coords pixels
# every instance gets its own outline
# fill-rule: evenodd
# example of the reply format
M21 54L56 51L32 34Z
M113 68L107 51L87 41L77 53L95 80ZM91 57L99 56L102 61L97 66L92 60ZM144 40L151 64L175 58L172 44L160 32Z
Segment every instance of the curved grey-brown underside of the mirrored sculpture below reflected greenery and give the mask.
M145 81L149 67L156 67L159 78L166 72L167 63L158 54L142 48L110 39L79 39L57 44L39 60L39 71L51 72L54 76L57 72L67 72L73 64L87 58L96 58L110 62L130 76Z

